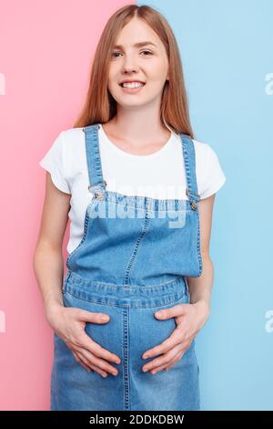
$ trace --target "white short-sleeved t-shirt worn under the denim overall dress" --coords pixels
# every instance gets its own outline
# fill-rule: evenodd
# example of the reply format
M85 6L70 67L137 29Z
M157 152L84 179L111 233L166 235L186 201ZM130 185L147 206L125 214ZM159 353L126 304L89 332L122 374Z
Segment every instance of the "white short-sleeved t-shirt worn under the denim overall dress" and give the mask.
M167 143L149 155L133 155L119 149L108 139L103 127L98 129L102 173L106 190L126 195L149 196L157 199L184 199L186 172L179 134L172 132ZM200 198L215 194L226 182L216 152L207 144L194 141L196 152L197 190ZM71 194L70 254L84 235L86 207L93 194L88 191L86 142L83 128L61 131L39 162L51 173L56 187Z

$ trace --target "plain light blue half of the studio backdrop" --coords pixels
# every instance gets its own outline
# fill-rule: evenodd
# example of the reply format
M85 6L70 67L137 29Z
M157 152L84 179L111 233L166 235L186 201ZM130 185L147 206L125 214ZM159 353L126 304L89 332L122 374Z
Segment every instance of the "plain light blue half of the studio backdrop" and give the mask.
M227 177L213 214L211 314L196 338L201 409L273 410L273 1L136 4L172 27L195 138Z

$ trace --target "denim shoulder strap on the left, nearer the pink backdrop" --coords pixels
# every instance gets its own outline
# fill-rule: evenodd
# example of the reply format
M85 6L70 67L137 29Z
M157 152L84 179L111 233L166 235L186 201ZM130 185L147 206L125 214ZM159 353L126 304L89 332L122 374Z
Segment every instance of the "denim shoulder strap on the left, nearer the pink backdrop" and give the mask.
M106 181L103 178L101 158L99 152L98 129L99 123L88 125L83 128L86 138L86 161L89 176L88 191L92 193L105 190Z

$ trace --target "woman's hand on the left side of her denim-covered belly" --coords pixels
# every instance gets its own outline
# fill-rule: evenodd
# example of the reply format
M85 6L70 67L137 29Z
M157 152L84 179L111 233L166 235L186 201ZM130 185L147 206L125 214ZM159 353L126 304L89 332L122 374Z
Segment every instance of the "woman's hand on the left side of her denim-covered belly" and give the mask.
M102 316L106 316L107 319L103 320ZM118 364L120 363L118 356L92 340L85 330L86 322L107 323L108 315L54 304L49 309L45 309L45 317L56 334L66 342L76 361L86 368L86 371L96 371L103 377L107 377L106 371L113 375L117 374L116 368L107 361Z

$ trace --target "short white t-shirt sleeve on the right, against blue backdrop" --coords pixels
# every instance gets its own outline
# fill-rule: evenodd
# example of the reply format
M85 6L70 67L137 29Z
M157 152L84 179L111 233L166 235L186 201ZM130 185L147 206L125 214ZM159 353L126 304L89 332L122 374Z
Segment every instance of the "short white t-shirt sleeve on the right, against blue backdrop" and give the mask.
M202 190L200 192L201 199L217 193L226 182L226 176L222 170L217 154L208 144L205 171L206 173L202 181Z

